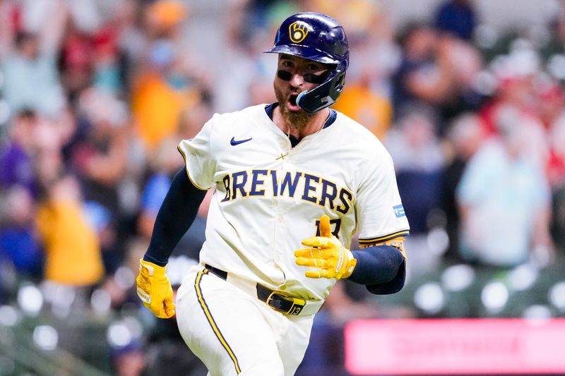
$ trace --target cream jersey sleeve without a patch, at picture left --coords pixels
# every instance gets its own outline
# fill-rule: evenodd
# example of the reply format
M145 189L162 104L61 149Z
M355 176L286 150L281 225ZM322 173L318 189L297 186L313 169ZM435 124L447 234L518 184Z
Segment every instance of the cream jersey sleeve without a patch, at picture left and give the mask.
M191 182L201 190L208 190L214 186L214 173L216 168L211 145L213 120L206 122L196 137L182 140L178 149L184 157L186 174Z

